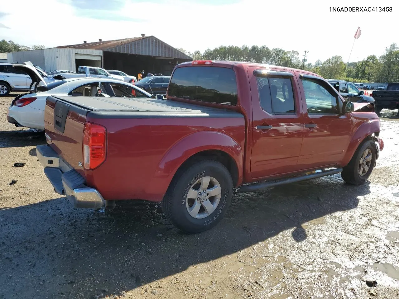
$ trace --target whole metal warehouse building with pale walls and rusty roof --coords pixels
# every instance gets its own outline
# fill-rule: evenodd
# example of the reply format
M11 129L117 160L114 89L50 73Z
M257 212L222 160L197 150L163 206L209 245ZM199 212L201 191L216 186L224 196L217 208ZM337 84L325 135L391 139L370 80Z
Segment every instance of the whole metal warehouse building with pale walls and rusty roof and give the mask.
M31 61L46 71L77 71L79 66L115 69L136 76L138 72L171 75L175 65L193 59L154 36L132 37L50 49L7 53L8 61Z

